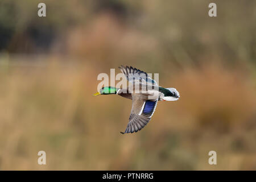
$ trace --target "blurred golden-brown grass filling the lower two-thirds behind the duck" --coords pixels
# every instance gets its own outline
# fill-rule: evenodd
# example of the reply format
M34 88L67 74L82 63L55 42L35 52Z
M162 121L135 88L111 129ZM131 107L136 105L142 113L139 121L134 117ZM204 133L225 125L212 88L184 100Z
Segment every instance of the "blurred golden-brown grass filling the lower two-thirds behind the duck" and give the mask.
M160 74L160 85L177 88L180 100L159 103L145 129L121 135L131 102L92 96L97 67L53 56L21 68L26 62L18 59L0 72L1 169L256 168L254 77L237 69L213 64ZM46 166L37 164L40 150ZM217 166L208 164L210 150Z

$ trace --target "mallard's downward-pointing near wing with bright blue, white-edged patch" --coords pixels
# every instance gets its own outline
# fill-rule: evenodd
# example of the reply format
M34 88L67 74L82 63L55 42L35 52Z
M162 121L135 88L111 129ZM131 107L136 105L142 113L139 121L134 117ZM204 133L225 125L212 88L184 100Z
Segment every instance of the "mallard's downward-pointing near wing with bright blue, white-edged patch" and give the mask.
M133 96L133 104L131 108L131 114L129 117L129 123L126 127L125 133L134 133L147 125L152 115L155 112L158 100L139 100L138 96Z

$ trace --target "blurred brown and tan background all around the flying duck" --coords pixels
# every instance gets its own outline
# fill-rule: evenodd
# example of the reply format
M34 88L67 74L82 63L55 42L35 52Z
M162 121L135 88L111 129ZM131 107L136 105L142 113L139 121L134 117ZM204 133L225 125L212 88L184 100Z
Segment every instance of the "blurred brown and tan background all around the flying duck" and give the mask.
M255 170L255 22L254 0L1 0L0 169ZM130 100L92 96L119 65L181 95L135 134Z

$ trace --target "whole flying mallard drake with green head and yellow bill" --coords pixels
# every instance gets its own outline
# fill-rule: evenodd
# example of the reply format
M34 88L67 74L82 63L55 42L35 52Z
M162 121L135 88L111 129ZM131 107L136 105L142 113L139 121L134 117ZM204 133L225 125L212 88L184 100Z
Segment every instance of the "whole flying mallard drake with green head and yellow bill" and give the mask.
M127 88L105 86L94 96L117 94L132 100L129 123L125 132L121 132L122 134L134 133L143 129L154 114L158 101L176 101L180 97L175 88L158 86L146 72L127 66L119 68L127 80L132 83L131 86Z

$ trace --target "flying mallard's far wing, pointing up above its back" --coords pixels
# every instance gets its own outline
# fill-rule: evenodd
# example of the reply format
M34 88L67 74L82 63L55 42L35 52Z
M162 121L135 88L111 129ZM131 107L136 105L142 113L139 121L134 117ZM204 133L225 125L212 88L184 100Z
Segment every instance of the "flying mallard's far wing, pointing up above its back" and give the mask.
M147 75L146 72L143 72L137 68L133 67L119 67L123 73L123 75L126 76L127 80L130 82L134 81L140 81L145 82L145 84L152 84L152 85L158 85L155 80L152 80L150 76Z

